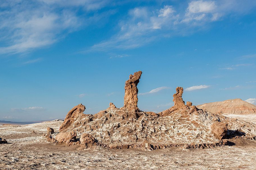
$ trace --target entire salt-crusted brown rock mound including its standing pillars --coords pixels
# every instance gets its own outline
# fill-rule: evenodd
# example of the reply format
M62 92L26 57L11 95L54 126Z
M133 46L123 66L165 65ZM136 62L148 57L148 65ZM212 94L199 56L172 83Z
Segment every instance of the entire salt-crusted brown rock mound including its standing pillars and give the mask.
M48 128L49 142L78 145L79 149L102 146L109 149L161 149L173 146L205 148L226 145L230 136L255 139L256 125L198 109L182 99L183 88L173 95L174 106L161 113L139 110L137 84L142 72L125 82L124 107L86 115L85 106L72 108L58 133Z

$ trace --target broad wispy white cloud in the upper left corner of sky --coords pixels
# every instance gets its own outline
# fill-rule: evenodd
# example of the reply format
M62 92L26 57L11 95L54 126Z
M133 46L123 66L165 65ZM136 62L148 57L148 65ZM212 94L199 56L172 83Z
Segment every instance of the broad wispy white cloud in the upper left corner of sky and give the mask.
M110 0L1 0L0 54L24 53L51 45L89 24L101 14L87 15L107 5ZM74 7L76 9L74 9ZM79 9L84 10L81 16Z

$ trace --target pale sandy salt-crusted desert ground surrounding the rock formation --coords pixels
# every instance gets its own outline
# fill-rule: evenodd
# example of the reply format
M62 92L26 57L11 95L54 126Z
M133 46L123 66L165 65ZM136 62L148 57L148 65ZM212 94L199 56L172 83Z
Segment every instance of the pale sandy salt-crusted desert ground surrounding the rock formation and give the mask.
M237 118L237 119L250 119ZM0 169L256 169L256 143L206 149L168 148L154 151L108 150L55 146L42 137L62 122L1 126ZM33 130L35 133L33 133Z

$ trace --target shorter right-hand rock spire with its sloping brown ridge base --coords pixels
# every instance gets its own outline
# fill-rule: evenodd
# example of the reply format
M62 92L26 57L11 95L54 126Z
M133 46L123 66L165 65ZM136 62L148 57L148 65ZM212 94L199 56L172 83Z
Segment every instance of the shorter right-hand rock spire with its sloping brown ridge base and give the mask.
M187 105L185 105L185 102L182 99L182 94L183 94L183 88L177 87L176 93L173 95L174 106L171 107L170 109L160 112L159 115L160 116L170 116L177 110L183 109L185 107L191 107L192 106L191 102L187 102ZM195 106L194 106L194 110L196 110Z

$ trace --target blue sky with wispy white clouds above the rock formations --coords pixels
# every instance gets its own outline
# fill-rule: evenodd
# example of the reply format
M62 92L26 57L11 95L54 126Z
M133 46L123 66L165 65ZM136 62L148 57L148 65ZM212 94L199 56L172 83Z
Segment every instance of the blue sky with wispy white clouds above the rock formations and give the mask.
M1 0L0 120L122 107L139 70L143 111L170 108L177 86L194 105L256 104L255 9L254 0Z

